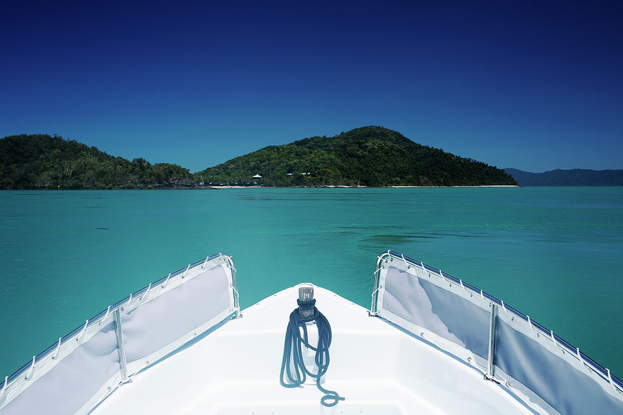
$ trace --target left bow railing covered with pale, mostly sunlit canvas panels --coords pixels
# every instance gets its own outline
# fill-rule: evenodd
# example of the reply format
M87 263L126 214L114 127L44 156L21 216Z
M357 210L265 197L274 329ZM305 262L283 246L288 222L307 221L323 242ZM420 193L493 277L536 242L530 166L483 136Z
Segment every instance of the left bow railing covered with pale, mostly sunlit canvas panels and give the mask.
M0 415L87 414L120 385L240 316L231 257L189 264L108 306L0 383Z

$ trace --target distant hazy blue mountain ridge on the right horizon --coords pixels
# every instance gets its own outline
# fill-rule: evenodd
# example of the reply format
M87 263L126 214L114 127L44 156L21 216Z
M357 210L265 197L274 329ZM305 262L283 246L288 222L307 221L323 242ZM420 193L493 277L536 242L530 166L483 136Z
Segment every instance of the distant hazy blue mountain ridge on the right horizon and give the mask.
M521 186L622 186L623 170L555 169L532 173L507 168Z

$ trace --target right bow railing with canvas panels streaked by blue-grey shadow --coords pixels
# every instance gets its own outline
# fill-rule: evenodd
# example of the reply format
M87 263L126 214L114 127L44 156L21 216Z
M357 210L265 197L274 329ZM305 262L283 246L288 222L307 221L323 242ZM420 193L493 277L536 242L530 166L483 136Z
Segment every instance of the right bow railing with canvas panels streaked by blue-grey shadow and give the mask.
M622 414L623 383L503 301L420 261L377 258L370 315L471 365L539 414Z

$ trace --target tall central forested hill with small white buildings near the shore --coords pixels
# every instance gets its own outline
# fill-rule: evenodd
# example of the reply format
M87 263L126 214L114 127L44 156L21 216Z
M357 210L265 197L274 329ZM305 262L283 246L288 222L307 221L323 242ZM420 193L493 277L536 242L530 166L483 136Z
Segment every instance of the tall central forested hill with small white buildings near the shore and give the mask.
M274 186L517 184L496 167L419 145L383 127L265 147L199 173L207 182ZM253 179L255 174L262 178Z

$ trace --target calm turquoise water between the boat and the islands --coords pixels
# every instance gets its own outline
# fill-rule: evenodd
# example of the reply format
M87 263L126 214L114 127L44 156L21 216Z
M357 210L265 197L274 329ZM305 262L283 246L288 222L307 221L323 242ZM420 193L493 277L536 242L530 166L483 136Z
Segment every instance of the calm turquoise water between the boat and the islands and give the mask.
M216 252L233 256L243 307L299 282L369 307L388 249L623 376L623 187L5 191L0 206L0 376Z

